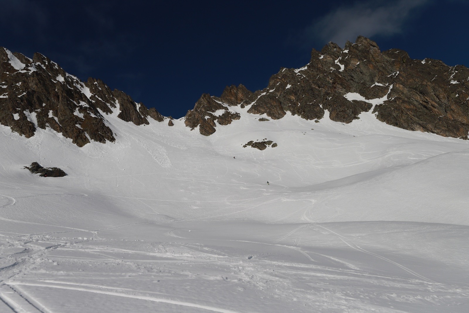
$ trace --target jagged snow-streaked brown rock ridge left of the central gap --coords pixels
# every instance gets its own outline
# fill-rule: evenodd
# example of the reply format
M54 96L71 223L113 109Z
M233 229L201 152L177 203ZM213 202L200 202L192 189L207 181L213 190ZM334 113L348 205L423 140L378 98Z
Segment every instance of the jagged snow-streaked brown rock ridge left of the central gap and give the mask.
M37 128L50 127L78 146L114 141L105 116L116 109L119 118L136 125L148 124L148 117L164 119L101 80L83 83L40 53L31 60L1 47L0 108L0 123L20 135L29 138Z

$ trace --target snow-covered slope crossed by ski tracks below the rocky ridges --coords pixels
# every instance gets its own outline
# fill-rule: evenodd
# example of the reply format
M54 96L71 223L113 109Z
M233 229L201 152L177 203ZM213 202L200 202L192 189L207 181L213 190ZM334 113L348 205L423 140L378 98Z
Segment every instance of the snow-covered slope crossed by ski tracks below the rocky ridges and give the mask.
M83 148L0 126L0 312L469 311L467 141L247 109L210 137L116 111Z

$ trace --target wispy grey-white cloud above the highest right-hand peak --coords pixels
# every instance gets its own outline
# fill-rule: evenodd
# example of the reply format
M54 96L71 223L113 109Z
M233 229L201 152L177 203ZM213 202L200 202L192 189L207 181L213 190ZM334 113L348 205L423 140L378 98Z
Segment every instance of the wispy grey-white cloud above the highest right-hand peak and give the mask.
M413 9L429 4L430 0L358 1L341 6L306 30L309 38L333 41L343 46L358 35L393 35L412 17Z

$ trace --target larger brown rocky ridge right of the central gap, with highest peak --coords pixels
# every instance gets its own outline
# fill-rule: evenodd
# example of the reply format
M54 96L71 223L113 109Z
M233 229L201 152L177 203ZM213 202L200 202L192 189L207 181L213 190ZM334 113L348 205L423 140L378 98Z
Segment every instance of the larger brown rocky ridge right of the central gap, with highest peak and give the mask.
M398 49L381 52L374 41L359 36L344 49L334 43L320 52L313 49L309 64L280 69L264 90L251 94L240 85L227 87L220 98L202 96L186 115L186 125L201 125L201 133L210 135L215 119L205 116L204 110L228 110L236 105L271 119L289 111L316 122L327 110L331 120L343 123L372 109L378 120L396 127L467 138L469 69L438 60L413 60Z

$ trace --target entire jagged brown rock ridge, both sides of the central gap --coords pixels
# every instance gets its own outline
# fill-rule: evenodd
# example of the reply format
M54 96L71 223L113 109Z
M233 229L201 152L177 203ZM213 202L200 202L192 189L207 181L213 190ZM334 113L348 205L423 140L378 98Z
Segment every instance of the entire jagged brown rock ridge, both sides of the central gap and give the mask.
M37 128L49 127L78 146L115 141L108 114L136 125L168 119L99 79L82 82L40 53L29 59L5 48L0 48L0 106L0 123L12 131L31 137ZM381 52L374 41L359 36L343 49L334 43L313 49L306 66L281 68L263 90L250 92L240 84L227 86L220 97L203 94L183 119L191 130L209 136L240 120L240 110L262 115L264 122L290 112L342 123L371 111L402 129L467 139L469 69L413 60L398 49ZM174 125L172 118L167 124Z

